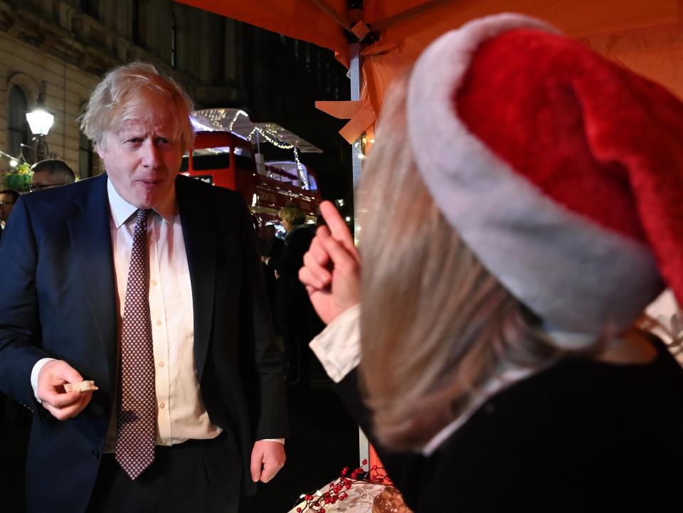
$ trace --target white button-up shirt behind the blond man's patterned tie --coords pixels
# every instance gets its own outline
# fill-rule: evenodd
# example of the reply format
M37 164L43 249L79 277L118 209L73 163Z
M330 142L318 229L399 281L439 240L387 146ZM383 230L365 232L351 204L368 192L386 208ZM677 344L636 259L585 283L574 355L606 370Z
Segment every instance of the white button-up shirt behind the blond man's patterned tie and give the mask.
M122 199L111 181L107 182L107 194L111 209L120 345L137 207ZM157 391L157 445L173 445L190 438L215 438L221 428L208 418L195 372L192 287L175 189L151 216L147 216L147 243L149 314ZM107 432L105 452L114 450L115 414L116 408Z

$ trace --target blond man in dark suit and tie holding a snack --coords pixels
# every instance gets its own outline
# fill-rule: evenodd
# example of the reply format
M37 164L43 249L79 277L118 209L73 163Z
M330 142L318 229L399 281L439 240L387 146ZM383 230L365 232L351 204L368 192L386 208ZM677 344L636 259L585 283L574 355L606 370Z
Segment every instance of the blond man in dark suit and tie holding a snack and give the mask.
M0 391L34 411L29 512L236 512L284 464L253 226L178 176L190 112L152 65L112 70L81 121L107 173L16 205Z

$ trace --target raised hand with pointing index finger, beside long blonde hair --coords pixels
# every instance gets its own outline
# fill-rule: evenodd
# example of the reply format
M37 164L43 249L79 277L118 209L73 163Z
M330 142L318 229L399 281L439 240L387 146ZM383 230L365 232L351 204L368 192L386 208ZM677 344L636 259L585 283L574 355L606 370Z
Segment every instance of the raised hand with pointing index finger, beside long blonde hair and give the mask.
M318 228L299 279L320 319L329 324L361 300L361 257L337 208L320 203L327 226Z

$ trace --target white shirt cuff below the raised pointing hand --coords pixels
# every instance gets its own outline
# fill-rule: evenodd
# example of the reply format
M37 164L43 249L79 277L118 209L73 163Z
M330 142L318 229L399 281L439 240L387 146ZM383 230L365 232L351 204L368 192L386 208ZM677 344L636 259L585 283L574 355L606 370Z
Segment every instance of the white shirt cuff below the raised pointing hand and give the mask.
M334 383L342 381L361 361L360 317L361 305L354 305L309 344Z

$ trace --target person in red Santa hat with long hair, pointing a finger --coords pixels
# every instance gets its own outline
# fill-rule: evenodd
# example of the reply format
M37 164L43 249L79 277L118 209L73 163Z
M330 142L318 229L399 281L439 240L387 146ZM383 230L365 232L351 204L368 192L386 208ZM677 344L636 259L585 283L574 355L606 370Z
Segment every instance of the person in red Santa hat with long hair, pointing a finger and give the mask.
M300 278L407 504L680 511L683 370L633 326L683 299L683 104L502 14L425 49L376 140L360 252L324 203Z

